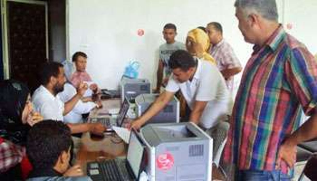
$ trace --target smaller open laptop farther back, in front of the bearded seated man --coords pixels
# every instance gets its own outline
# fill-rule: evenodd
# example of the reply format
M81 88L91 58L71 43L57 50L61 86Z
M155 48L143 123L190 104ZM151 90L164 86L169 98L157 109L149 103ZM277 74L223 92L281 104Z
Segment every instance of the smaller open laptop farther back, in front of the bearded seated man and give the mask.
M97 117L97 118L90 118L90 123L97 123L100 122L102 125L107 127L106 131L113 131L112 126L119 126L122 127L124 118L126 117L126 113L129 110L129 102L127 99L124 99L123 103L121 104L120 111L117 117Z

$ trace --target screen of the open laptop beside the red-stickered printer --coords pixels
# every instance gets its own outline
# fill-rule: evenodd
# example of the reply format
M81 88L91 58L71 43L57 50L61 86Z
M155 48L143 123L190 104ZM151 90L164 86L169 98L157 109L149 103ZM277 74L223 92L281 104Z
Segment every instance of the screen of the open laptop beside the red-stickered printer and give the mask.
M136 134L137 133L135 133L134 130L131 130L127 160L132 168L135 178L138 178L144 153L144 145L138 139Z

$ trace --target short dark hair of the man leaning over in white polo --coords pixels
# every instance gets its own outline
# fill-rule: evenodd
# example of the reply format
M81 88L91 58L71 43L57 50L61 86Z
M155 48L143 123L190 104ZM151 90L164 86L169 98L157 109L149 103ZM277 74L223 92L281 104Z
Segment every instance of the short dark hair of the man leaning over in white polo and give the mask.
M187 71L189 68L195 67L196 64L194 57L186 50L175 51L168 61L168 65L171 69L180 68L183 71Z

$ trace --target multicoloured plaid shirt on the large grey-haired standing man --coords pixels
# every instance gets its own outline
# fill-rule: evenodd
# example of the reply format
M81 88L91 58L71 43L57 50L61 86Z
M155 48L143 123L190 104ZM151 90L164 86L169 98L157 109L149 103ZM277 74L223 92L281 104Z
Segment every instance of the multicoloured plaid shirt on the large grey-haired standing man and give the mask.
M280 26L254 52L243 72L224 159L240 170L275 169L278 148L299 127L302 112L315 113L317 62ZM282 172L287 172L282 163Z

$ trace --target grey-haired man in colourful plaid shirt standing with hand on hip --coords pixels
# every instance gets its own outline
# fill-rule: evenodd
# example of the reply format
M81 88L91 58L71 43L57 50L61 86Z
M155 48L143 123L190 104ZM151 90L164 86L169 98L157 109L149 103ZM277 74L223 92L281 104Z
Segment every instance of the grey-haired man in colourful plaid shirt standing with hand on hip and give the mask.
M237 180L288 180L296 145L317 137L317 62L277 22L275 0L236 0L254 52L236 95L224 160ZM299 127L302 112L310 118ZM296 131L295 131L296 130Z

